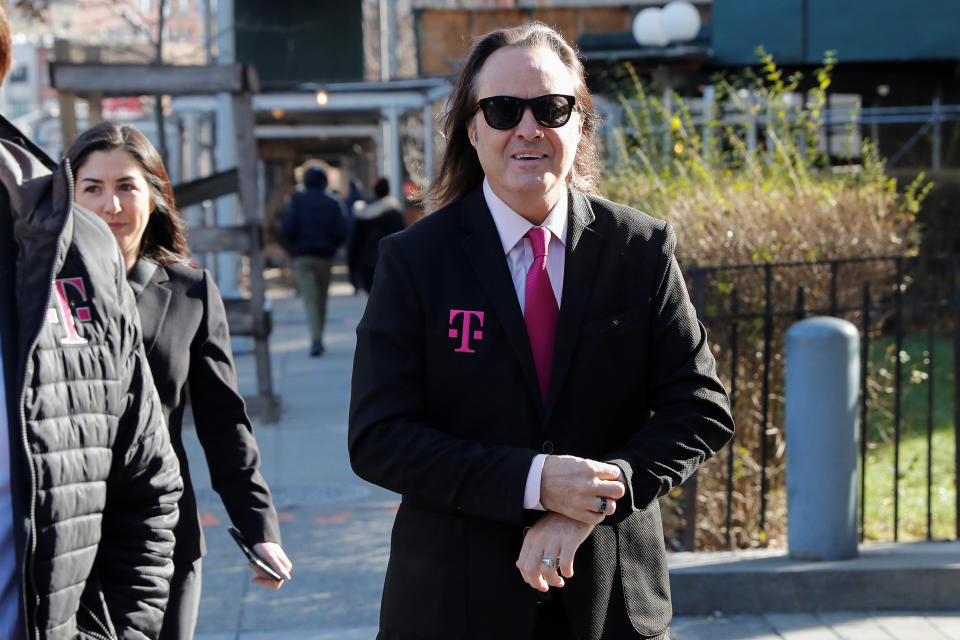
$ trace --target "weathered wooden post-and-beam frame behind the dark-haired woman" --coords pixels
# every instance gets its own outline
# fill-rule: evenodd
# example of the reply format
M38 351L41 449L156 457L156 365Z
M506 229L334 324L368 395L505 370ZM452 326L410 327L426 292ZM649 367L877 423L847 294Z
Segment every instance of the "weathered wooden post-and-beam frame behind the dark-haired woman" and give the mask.
M259 90L256 72L244 64L221 66L166 66L55 62L50 65L52 86L76 96L203 95L229 93L236 130L237 167L174 188L178 209L203 200L237 193L244 223L229 227L188 229L195 253L232 251L246 254L250 264L250 297L225 299L230 332L254 339L257 395L247 398L252 413L267 422L279 417L280 401L273 393L268 338L270 312L265 307L263 232L257 187L257 147L254 138L252 94ZM71 103L72 106L72 103ZM68 116L69 118L69 116Z

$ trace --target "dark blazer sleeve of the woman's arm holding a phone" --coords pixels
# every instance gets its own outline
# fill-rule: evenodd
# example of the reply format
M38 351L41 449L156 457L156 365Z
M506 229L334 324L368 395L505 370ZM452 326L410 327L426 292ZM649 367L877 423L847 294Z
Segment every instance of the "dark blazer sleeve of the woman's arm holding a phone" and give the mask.
M230 347L223 299L210 274L199 295L203 319L190 346L188 384L197 437L230 520L250 544L280 543L280 525L253 435Z

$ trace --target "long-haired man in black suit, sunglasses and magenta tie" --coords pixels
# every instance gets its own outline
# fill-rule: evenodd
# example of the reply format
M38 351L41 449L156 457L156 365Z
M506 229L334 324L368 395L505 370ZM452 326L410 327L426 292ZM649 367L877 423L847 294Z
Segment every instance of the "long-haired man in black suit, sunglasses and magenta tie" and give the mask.
M733 433L673 231L599 196L552 29L477 41L450 105L357 328L351 462L403 495L379 637L669 638L657 498Z

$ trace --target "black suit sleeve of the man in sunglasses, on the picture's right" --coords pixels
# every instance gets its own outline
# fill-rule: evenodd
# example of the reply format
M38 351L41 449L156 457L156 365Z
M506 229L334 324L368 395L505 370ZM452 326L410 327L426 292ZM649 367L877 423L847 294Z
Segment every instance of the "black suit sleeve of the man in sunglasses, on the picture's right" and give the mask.
M607 462L623 470L627 495L605 524L620 522L680 486L733 437L727 393L717 377L706 329L687 295L675 246L676 236L667 226L650 312L647 398L653 415L607 456Z

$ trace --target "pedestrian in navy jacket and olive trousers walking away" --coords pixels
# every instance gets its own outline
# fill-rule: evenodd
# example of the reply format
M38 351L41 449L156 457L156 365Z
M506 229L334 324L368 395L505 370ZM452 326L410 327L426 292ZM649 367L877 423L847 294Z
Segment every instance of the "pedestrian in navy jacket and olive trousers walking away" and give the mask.
M323 327L327 320L327 291L333 254L347 237L347 210L336 194L327 191L327 172L319 165L303 175L303 190L294 192L283 212L283 237L293 263L297 289L310 324L310 355L323 355Z

